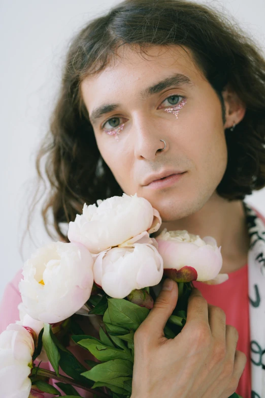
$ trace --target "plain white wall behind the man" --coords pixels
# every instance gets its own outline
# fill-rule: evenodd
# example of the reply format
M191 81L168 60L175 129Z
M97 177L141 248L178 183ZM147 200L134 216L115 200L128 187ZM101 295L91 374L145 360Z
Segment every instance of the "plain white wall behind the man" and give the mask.
M264 0L200 1L227 10L260 44L264 52ZM26 227L28 203L36 187L35 158L48 129L61 74L61 61L70 38L89 19L99 16L113 0L1 0L0 2L0 299L6 284L36 247L51 238L40 210L19 252ZM265 215L265 189L248 196Z

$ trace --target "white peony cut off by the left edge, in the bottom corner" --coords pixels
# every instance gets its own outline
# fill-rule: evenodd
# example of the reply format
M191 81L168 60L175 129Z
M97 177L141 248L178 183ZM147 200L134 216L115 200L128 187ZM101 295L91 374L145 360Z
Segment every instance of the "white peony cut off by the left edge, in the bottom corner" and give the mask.
M16 323L0 334L0 396L28 398L34 341L27 330Z

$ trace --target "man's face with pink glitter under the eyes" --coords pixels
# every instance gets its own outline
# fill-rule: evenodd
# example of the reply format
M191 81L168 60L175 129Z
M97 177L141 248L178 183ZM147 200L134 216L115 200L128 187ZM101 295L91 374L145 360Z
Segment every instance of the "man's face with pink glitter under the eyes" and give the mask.
M115 65L81 85L98 149L123 192L146 198L163 221L186 217L216 195L226 169L220 100L179 46L153 46L144 57L124 46L119 55ZM182 78L182 84L157 84L177 74L190 83ZM150 86L155 87L147 95ZM108 104L119 105L95 119L96 108ZM179 104L177 113L170 112ZM166 143L163 151L160 140ZM161 180L146 185L148 177L163 171L185 173L164 185Z

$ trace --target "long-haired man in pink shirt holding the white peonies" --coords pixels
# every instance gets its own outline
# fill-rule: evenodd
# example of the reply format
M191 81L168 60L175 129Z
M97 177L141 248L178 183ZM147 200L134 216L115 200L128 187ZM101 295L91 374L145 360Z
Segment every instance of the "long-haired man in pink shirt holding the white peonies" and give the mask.
M178 287L159 287L135 334L131 398L265 396L265 218L244 201L265 187L264 104L260 48L210 6L125 0L71 42L37 157L41 177L47 155L50 236L50 210L55 238L68 242L63 227L84 202L137 193L159 211L157 233L213 236L229 276L220 285L194 282L187 322L170 340L163 327ZM20 278L6 289L2 328L17 316Z

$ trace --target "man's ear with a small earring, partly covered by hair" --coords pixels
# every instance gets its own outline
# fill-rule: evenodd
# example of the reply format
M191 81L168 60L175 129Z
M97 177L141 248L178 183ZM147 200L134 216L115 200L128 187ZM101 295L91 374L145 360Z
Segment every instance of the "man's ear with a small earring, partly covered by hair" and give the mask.
M234 124L238 125L246 113L246 104L241 101L237 93L227 84L223 91L222 96L225 105L225 129L233 127Z

